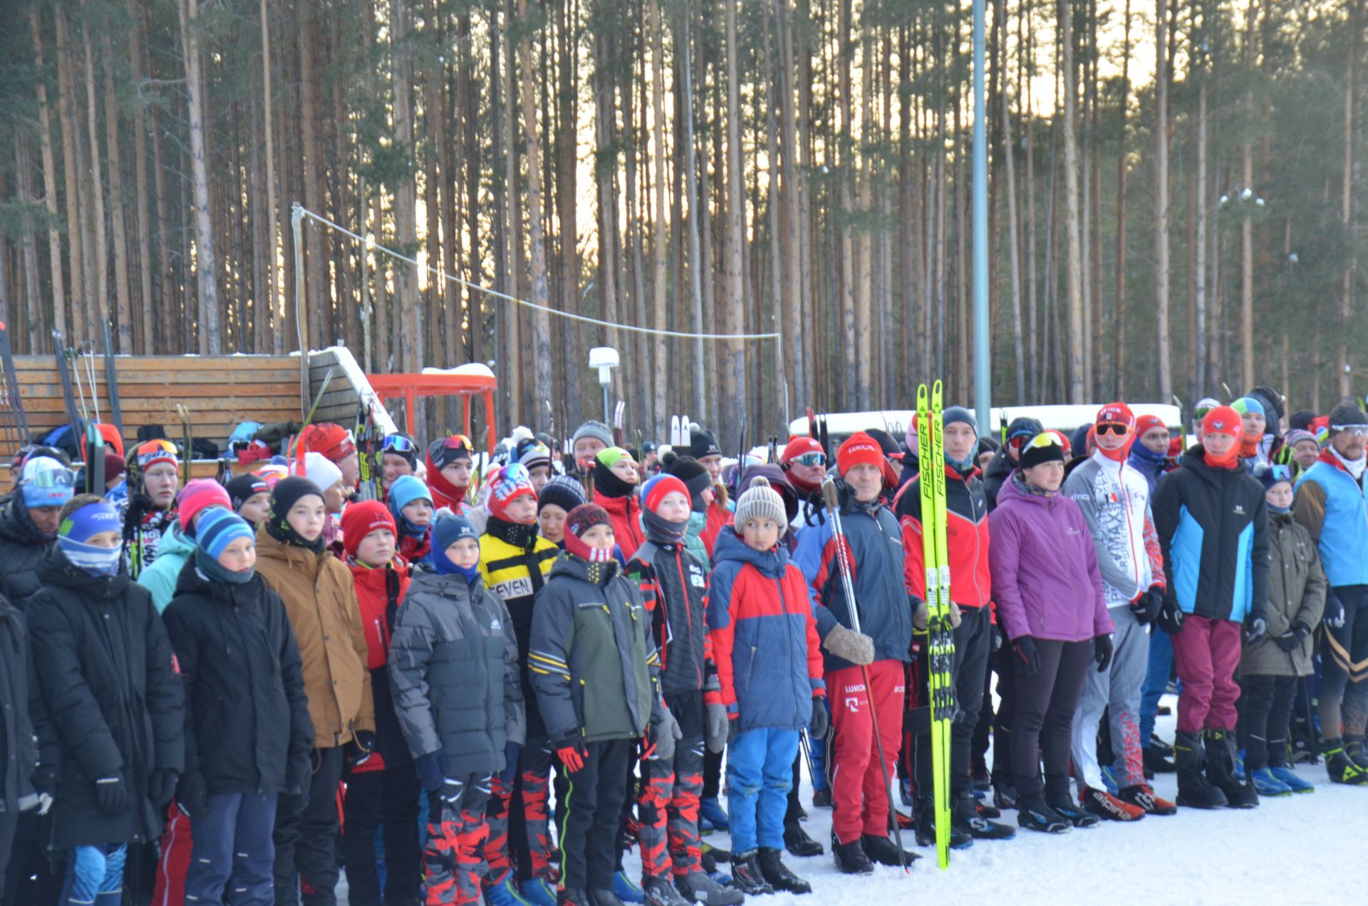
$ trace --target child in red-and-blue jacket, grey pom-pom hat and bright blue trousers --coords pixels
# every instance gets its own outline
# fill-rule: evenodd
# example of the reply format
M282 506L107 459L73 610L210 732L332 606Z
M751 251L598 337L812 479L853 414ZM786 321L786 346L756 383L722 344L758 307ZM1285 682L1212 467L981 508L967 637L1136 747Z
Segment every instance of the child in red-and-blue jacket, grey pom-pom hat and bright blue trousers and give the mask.
M721 703L732 743L726 757L732 877L746 894L807 894L780 855L799 731L826 736L822 654L803 572L780 538L788 516L763 478L736 501L736 524L717 536L707 593Z

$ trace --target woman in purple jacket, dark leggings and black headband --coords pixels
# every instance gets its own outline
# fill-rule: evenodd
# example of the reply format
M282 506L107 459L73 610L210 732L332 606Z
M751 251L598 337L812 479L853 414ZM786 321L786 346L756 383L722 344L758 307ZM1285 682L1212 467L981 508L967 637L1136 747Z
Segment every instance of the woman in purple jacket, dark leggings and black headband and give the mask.
M1045 431L1027 442L988 519L988 549L997 623L1016 664L1016 823L1062 833L1094 827L1068 792L1068 743L1088 668L1105 671L1112 621L1103 595L1083 512L1059 493L1064 449ZM1045 784L1026 765L1045 758Z

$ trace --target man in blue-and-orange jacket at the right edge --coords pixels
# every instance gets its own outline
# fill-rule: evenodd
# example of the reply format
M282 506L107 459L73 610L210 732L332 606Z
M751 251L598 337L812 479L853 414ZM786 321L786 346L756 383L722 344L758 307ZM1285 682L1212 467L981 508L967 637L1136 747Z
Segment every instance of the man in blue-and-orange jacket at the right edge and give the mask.
M1368 415L1352 402L1330 413L1330 445L1297 480L1293 508L1320 547L1330 593L1320 636L1320 732L1335 783L1368 781L1368 504L1364 502ZM1341 727L1343 735L1341 735Z

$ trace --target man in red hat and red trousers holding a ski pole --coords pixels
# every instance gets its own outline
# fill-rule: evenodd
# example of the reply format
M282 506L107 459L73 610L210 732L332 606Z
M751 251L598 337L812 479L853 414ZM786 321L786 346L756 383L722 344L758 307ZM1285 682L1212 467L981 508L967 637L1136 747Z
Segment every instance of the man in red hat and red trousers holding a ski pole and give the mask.
M832 849L843 872L869 873L871 858L884 865L900 862L888 838L884 791L891 775L881 772L892 771L902 749L907 686L903 662L911 660L914 606L903 583L903 534L897 517L880 504L889 471L884 450L858 431L841 445L836 465L845 482L841 528L860 632L850 628L854 625L852 605L841 587L829 515L822 524L803 531L793 561L811 587L817 632L826 651L826 688L832 702L832 732L828 735ZM882 765L874 745L876 710L884 745Z

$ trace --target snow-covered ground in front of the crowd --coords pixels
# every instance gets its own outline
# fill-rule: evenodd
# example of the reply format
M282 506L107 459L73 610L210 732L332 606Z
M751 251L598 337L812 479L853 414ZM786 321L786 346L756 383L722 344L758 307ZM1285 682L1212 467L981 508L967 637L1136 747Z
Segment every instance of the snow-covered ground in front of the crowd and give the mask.
M1174 697L1164 703L1176 706ZM1174 716L1159 719L1159 734L1174 736ZM785 855L813 894L754 898L762 906L884 906L886 903L1183 903L1256 906L1261 903L1363 902L1364 842L1368 839L1368 788L1335 786L1321 764L1298 775L1316 784L1312 794L1264 799L1253 810L1197 812L1146 817L1133 824L1104 821L1094 829L1060 836L1018 831L1012 840L979 842L951 853L947 870L936 866L933 849L918 849L911 831L906 849L921 853L910 875L877 866L871 877L847 877L830 854L810 859ZM806 766L804 766L806 775ZM1159 795L1176 795L1174 775L1159 775ZM896 792L895 792L896 795ZM828 846L829 809L811 807L803 779L807 832ZM1016 813L1003 821L1015 827ZM707 842L731 847L725 833ZM627 859L632 877L640 859ZM339 891L345 899L345 881Z

